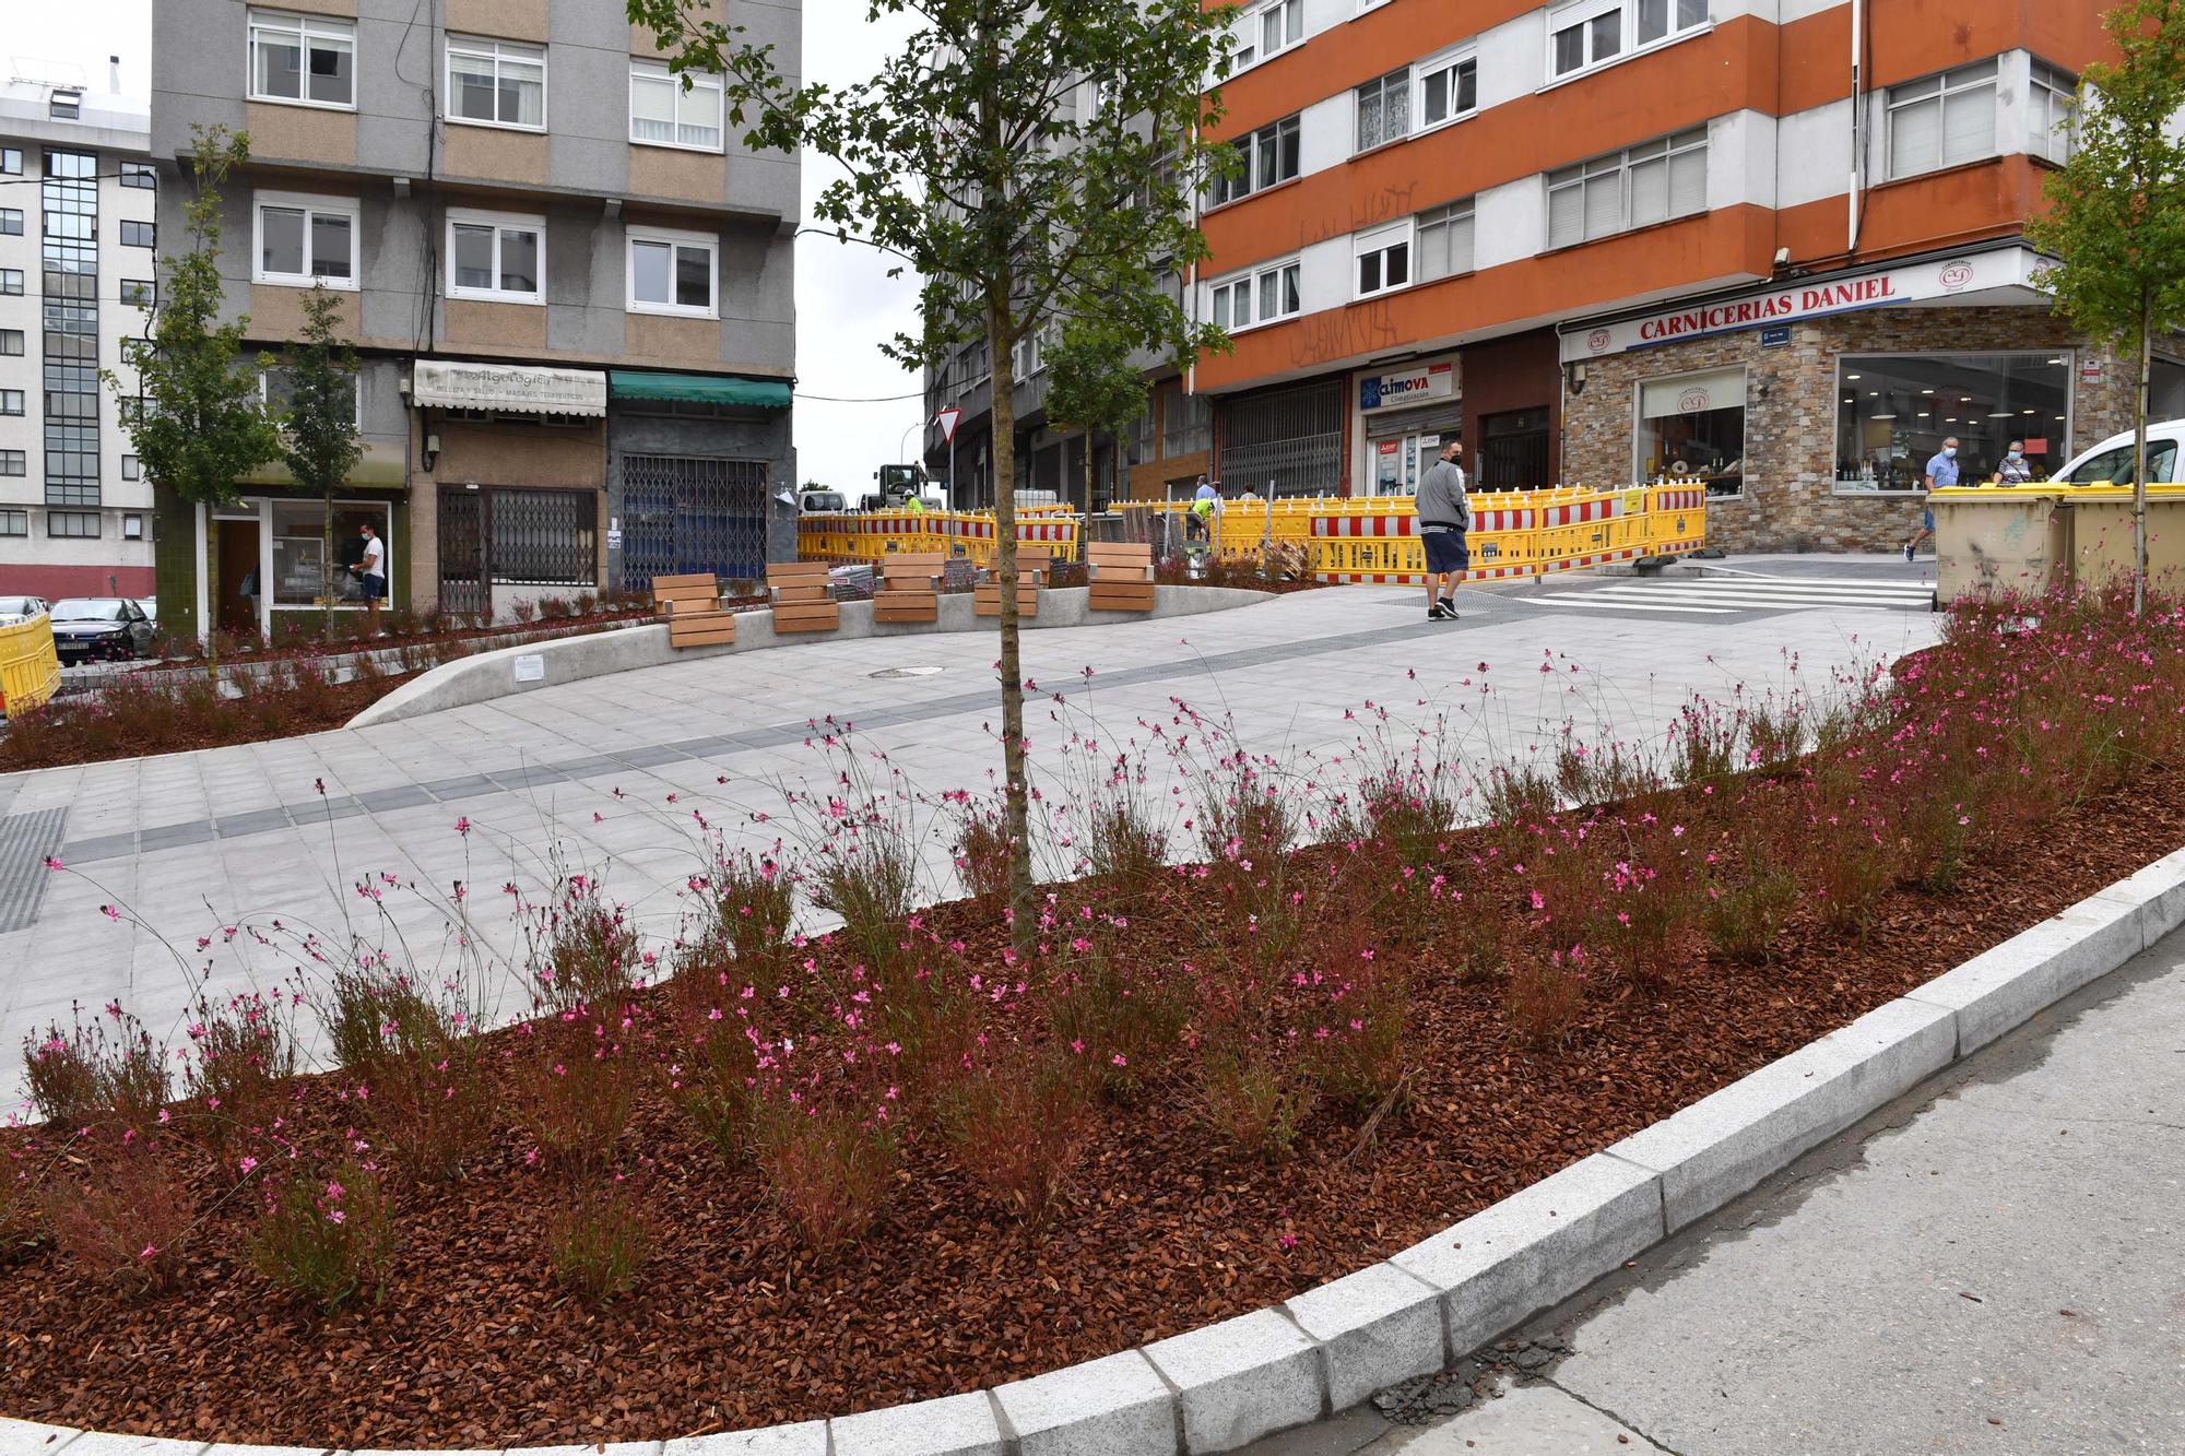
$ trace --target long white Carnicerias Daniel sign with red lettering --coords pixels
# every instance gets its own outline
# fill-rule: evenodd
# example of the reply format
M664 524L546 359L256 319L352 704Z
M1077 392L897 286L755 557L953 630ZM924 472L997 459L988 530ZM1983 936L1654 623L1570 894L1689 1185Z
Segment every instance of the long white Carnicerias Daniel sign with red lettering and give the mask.
M1582 363L1628 350L1650 350L1682 339L1704 339L1770 324L1796 324L1855 308L1934 302L1960 293L1991 289L2025 289L2034 302L2032 278L2041 258L2025 247L1914 262L1894 269L1844 273L1790 284L1733 293L1704 304L1672 306L1661 313L1615 319L1610 324L1564 324L1562 363Z

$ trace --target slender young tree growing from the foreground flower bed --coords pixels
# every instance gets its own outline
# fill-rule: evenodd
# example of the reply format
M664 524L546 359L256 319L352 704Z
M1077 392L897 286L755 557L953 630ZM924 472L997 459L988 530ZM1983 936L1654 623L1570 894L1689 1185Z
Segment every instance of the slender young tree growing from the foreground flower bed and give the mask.
M815 214L846 243L924 280L924 328L887 352L911 365L988 341L994 380L1001 741L1009 903L1031 931L1025 695L1016 621L1014 354L1053 313L1112 324L1178 363L1221 334L1162 286L1206 256L1191 199L1226 162L1202 96L1228 55L1232 9L1202 0L867 0L867 24L918 31L870 81L793 85L767 46L739 42L704 0L627 0L677 70L721 72L754 146L808 146L841 177Z

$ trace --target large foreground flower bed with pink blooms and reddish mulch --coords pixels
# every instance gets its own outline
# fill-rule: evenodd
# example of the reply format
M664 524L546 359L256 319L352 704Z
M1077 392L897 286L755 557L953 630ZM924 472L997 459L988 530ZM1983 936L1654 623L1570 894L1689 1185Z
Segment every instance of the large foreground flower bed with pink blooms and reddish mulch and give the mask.
M1696 704L1658 763L1567 739L1477 785L1379 711L1337 789L1180 706L1145 752L1195 763L1189 807L1073 743L1042 831L1073 874L1023 947L992 896L913 909L922 800L837 745L800 848L714 853L675 944L583 874L505 896L538 1003L487 1034L461 966L218 931L312 973L203 1006L179 1058L120 1008L28 1047L57 1119L7 1135L4 1414L660 1439L1278 1301L2176 848L2181 638L2174 603L1960 610L1894 682ZM948 809L992 888L992 807ZM798 896L843 929L791 936ZM306 1014L343 1071L291 1076Z

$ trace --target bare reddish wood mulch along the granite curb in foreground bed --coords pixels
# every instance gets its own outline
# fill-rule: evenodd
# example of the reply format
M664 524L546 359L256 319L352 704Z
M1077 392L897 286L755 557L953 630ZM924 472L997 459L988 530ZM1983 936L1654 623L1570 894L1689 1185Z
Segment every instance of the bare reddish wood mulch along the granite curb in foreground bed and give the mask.
M1040 1233L922 1146L878 1224L813 1266L758 1189L647 1093L636 1139L660 1159L660 1240L607 1310L551 1281L513 1132L472 1181L398 1191L393 1281L332 1323L238 1268L234 1205L181 1290L149 1303L37 1250L0 1270L0 1410L197 1441L489 1447L734 1430L1034 1375L1396 1253L2178 844L2185 778L2150 774L1949 894L1892 892L1864 944L1800 920L1779 964L1693 966L1658 1001L1602 995L1560 1054L1510 1049L1495 988L1422 966L1416 1104L1370 1152L1342 1163L1359 1119L1322 1113L1291 1163L1267 1165L1184 1100L1151 1100L1108 1115ZM985 925L970 907L935 914L948 931ZM1173 934L1158 918L1136 923L1147 944Z

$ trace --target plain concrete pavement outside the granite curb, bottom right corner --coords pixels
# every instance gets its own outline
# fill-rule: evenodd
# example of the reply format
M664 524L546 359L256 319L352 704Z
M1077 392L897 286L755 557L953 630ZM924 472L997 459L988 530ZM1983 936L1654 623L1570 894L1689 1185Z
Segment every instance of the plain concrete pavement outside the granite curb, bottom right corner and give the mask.
M2185 931L1519 1334L1254 1456L2185 1452Z

